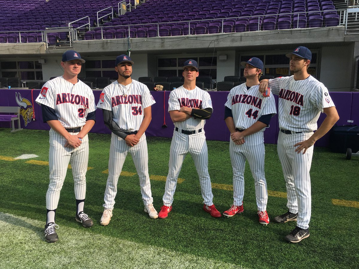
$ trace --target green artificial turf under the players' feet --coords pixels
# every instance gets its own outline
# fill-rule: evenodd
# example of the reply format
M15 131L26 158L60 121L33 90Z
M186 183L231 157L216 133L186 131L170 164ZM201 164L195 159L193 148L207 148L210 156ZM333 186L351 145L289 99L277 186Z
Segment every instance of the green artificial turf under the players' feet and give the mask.
M293 230L295 223L268 226L258 223L248 164L244 176L244 213L232 218L212 218L204 212L198 175L190 155L183 162L180 178L185 180L177 184L168 218L152 220L144 212L135 174L120 176L112 220L106 227L99 225L107 180L102 171L108 168L110 135L90 133L89 140L89 167L93 169L87 173L85 211L95 224L85 229L75 221L69 169L56 211L60 229L59 242L55 244L45 242L43 235L48 166L26 163L28 160L0 159L0 212L3 212L0 268L46 268L56 264L65 268L358 267L359 208L332 204L332 199L358 202L358 157L348 161L344 154L314 149L311 235L298 244L289 244L283 237ZM149 174L166 176L171 139L148 137L147 142ZM229 143L207 143L212 183L232 184ZM11 133L0 128L0 145L0 156L36 154L39 157L30 160L48 161L47 131L24 129ZM130 154L123 171L136 173ZM265 172L268 190L286 191L276 145L266 145ZM162 206L164 186L164 181L151 180L157 211ZM232 191L213 188L213 194L214 204L221 212L233 203ZM269 196L270 218L285 211L285 198Z

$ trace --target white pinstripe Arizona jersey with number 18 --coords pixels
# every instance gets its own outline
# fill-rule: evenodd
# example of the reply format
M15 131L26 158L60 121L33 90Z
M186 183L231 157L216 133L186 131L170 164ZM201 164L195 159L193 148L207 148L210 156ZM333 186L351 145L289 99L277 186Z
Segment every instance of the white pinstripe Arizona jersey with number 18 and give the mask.
M294 80L293 76L270 79L268 86L278 95L279 128L295 132L317 129L320 112L335 107L328 89L313 76Z

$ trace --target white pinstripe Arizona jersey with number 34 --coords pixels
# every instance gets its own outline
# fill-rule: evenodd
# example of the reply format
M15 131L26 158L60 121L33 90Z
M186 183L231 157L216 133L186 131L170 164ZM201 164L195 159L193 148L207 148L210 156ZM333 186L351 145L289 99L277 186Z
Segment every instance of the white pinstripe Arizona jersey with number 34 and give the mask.
M143 109L155 102L147 86L132 79L129 85L116 81L106 86L98 101L97 107L112 110L113 121L122 130L137 131L143 121Z

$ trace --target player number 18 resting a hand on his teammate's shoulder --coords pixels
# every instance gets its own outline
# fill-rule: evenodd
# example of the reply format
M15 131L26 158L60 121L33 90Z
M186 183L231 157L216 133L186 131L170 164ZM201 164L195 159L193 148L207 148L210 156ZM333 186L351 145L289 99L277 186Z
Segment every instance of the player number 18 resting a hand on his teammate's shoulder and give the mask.
M297 47L287 53L290 58L289 77L262 80L260 91L269 85L278 95L279 137L278 155L287 188L288 212L274 218L275 222L297 221L295 229L285 240L297 243L309 236L311 218L311 169L313 145L339 119L328 89L308 74L312 52ZM321 112L326 118L317 129ZM313 132L317 130L316 132Z

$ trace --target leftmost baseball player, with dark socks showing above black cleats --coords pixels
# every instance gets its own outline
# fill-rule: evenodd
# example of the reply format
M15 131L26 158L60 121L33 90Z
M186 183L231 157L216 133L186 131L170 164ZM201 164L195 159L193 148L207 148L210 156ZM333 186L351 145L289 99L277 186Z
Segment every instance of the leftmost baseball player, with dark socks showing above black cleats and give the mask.
M93 222L84 213L86 171L89 155L87 133L95 124L95 100L89 86L78 80L81 71L78 52L69 50L62 55L64 75L47 81L36 102L41 105L44 122L50 125L50 184L46 193L45 238L48 242L59 240L55 223L56 208L64 184L67 167L72 167L76 198L76 221L84 227Z

